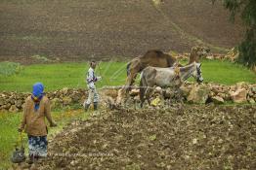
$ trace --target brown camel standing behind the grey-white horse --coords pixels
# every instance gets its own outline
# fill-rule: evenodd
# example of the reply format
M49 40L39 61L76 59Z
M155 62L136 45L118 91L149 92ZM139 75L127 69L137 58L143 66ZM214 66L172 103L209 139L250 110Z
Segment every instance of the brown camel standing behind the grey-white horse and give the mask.
M199 62L199 59L209 51L209 48L206 47L193 47L188 64L191 64L193 61ZM130 86L134 84L138 73L141 73L146 67L152 66L166 68L174 66L174 63L176 62L177 59L170 54L155 50L147 51L145 55L135 57L127 64L126 67L126 91L130 90ZM182 67L182 65L179 63L177 65Z

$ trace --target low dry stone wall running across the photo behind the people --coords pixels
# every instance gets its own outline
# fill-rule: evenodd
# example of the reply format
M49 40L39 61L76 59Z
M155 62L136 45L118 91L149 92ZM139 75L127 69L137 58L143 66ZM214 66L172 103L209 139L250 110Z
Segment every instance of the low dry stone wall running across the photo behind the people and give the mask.
M118 98L118 90L120 88L106 88L99 90L102 98L102 104L105 106L115 104ZM120 91L120 90L119 90ZM132 101L140 102L139 87L133 88L129 92L129 98ZM46 92L51 100L52 108L61 108L72 104L82 104L87 97L85 89L63 88L52 92ZM178 95L179 94L179 95ZM0 93L0 111L3 112L19 112L22 111L23 104L30 93L19 92L1 92ZM225 102L233 103L251 103L256 101L256 85L248 85L246 83L237 83L236 85L215 85L215 84L193 84L187 83L181 87L180 91L172 88L162 89L155 87L150 95L152 105L163 104L169 100L180 99L184 102L205 104L215 103L223 104ZM123 98L124 99L124 98ZM125 100L126 100L125 99ZM158 102L155 104L155 99Z

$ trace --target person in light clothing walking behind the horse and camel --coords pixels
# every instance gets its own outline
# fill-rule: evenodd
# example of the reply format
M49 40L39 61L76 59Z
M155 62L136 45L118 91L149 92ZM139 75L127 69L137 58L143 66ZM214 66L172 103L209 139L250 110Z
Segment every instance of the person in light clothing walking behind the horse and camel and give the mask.
M98 106L98 101L99 101L99 94L96 90L96 86L95 83L97 81L100 81L102 79L102 77L96 77L94 70L96 68L96 62L92 61L90 63L90 68L87 72L87 78L86 78L86 82L87 82L87 86L89 88L89 95L87 100L84 101L84 109L85 111L88 110L91 102L92 102L92 98L93 98L93 102L94 102L94 110L97 110L97 106Z

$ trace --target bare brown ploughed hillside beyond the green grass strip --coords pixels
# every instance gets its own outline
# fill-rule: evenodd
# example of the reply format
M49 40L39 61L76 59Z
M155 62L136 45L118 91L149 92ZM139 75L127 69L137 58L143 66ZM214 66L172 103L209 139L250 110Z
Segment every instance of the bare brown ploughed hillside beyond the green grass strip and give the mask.
M1 0L0 61L134 57L149 49L190 51L198 43L215 51L235 46L242 29L229 23L223 7L193 1Z

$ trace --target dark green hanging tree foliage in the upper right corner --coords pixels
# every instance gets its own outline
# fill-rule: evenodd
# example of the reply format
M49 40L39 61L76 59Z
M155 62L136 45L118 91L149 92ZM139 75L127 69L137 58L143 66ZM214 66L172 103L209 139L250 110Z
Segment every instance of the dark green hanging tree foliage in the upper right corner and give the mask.
M213 3L216 0L212 0ZM256 0L222 0L226 9L231 12L231 19L240 14L246 27L245 37L238 45L237 61L248 66L256 65Z

